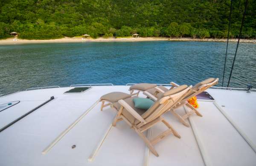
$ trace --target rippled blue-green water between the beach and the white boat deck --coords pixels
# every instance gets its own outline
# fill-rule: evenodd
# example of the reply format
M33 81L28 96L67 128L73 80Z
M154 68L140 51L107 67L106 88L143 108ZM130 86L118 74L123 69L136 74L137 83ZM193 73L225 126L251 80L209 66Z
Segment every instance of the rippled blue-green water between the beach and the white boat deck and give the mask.
M230 43L227 72L235 53ZM0 45L0 91L37 85L222 82L224 42L84 42ZM240 43L230 87L256 87L256 44Z

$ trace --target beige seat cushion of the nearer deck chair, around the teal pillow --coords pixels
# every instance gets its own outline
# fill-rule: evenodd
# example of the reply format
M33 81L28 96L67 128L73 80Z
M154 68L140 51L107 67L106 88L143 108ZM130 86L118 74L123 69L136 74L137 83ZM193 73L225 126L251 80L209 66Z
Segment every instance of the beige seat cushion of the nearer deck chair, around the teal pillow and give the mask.
M145 113L146 110L136 108L136 107L134 106L133 98L137 98L137 96L135 96L135 97L130 97L130 98L126 98L126 99L124 99L124 101L125 101L127 104L129 104L139 115L142 115L143 113ZM119 102L115 102L115 103L113 103L113 106L114 106L117 110L119 110L120 107L121 107L121 104L119 104ZM128 119L128 121L131 122L131 124L134 124L134 121L136 120L136 118L134 118L134 116L131 115L131 113L129 113L126 109L123 109L122 114L125 116L125 118Z

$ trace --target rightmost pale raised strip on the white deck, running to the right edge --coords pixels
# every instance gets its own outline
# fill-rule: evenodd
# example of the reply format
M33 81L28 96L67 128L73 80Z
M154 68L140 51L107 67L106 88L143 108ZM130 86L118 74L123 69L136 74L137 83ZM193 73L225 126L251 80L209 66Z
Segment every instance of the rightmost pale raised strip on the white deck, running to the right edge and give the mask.
M213 104L218 108L222 115L224 115L224 117L230 122L230 124L236 129L236 131L239 132L242 138L244 138L244 140L256 153L256 145L253 143L253 141L250 140L250 138L238 127L238 125L236 125L236 123L227 115L227 113L225 113L225 111L216 102L213 102Z

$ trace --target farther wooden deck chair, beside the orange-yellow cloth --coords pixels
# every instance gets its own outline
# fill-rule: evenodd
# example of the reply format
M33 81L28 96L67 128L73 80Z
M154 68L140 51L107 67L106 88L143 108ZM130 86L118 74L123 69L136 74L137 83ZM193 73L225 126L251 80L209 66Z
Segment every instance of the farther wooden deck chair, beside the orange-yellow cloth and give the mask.
M177 87L179 87L179 85L171 82L171 84L173 85L171 87L171 89L175 89ZM203 116L201 113L199 113L199 111L194 108L192 105L190 105L188 103L188 99L192 98L202 92L204 92L205 90L207 90L209 87L212 87L213 85L218 84L218 78L214 79L214 78L209 78L206 79L202 82L199 82L198 84L195 84L192 88L191 88L191 92L186 95L175 107L173 107L172 109L170 109L170 112L175 115L179 121L185 125L186 127L189 127L189 124L185 121L186 118L188 118L190 115L193 115L194 113L198 116ZM166 88L166 87L165 87ZM167 88L166 88L167 89ZM159 97L162 93L164 93L165 91L163 90L163 88L160 87L155 87L155 89L150 89L145 91L143 94L145 94L146 96L148 96L149 98L151 98L152 100L156 101L157 97ZM175 109L178 107L181 107L183 105L186 105L187 107L190 108L190 111L188 113L186 113L185 115L179 115Z

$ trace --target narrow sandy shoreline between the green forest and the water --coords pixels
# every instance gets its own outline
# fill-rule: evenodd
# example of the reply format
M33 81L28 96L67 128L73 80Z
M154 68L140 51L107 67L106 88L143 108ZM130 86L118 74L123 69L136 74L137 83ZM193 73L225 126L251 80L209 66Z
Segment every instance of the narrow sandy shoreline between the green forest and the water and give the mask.
M143 41L197 41L197 42L227 42L227 39L199 39L199 38L169 38L169 37L139 37L139 38L103 38L99 37L97 39L82 39L81 37L63 37L61 39L46 39L46 40L27 40L27 39L17 39L13 41L14 38L1 39L0 45L12 45L12 44L29 44L29 43L67 43L67 42L143 42ZM229 39L229 42L237 42L238 39ZM255 43L256 39L240 39L240 42L244 43Z

